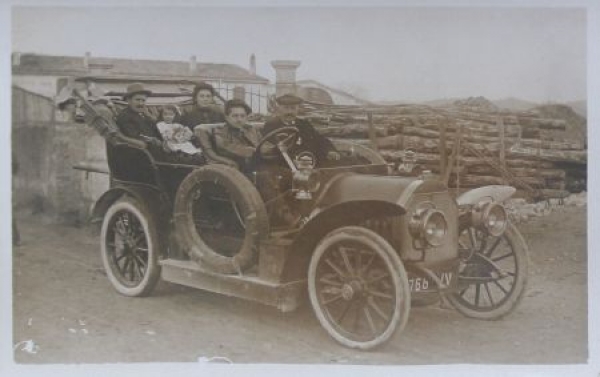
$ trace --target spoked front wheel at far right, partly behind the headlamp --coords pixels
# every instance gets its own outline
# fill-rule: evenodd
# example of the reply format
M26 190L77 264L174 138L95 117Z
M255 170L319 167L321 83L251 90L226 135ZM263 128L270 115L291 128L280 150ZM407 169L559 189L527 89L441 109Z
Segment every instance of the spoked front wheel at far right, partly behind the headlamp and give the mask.
M459 248L458 291L448 295L456 310L485 320L512 312L525 292L529 264L527 244L517 228L508 224L499 237L466 228Z

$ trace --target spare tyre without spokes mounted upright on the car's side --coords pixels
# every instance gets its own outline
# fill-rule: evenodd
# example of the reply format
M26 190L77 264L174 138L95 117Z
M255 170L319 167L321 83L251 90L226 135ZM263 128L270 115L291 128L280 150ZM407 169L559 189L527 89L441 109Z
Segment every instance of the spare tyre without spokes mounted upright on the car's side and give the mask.
M242 173L206 165L181 182L174 206L175 236L192 260L219 273L241 273L257 259L269 233L264 202Z

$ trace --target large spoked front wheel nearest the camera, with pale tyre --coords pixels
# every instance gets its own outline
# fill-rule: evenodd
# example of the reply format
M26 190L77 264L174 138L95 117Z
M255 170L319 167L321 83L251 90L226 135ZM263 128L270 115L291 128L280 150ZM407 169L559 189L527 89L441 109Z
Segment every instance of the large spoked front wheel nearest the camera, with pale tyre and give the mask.
M371 349L406 325L408 277L394 248L372 230L334 230L317 246L308 270L317 319L350 348Z

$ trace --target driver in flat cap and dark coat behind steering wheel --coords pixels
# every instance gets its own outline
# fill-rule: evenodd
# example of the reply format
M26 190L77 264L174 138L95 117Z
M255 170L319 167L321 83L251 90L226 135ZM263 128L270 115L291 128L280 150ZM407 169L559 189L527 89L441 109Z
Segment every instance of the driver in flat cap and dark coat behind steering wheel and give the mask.
M263 128L263 136L282 127L296 127L299 131L296 147L290 150L293 155L302 152L312 152L317 163L323 164L327 160L339 160L340 154L329 139L319 134L308 120L298 118L298 110L303 100L292 94L284 94L275 99L277 102L276 117L267 121Z

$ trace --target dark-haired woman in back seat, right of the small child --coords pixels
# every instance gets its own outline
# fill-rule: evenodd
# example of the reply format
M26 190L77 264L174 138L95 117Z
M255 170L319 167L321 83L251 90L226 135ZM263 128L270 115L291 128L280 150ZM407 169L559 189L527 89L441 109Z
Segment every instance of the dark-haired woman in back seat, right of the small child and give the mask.
M214 103L214 96L215 88L212 85L206 82L196 84L192 93L194 107L183 114L179 123L193 130L199 124L225 122L223 112Z

